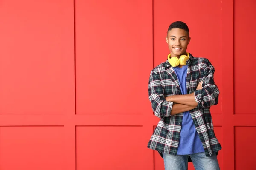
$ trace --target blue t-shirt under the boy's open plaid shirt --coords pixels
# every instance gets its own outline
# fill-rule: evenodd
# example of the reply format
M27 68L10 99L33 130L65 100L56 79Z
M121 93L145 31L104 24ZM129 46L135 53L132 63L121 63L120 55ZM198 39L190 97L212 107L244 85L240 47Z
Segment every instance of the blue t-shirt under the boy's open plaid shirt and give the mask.
M180 90L182 94L187 94L186 89L186 74L188 66L184 65L182 68L174 67L174 71L180 83ZM178 146L177 155L188 155L193 153L204 152L204 147L199 139L198 133L195 130L192 117L189 111L183 113L180 142Z

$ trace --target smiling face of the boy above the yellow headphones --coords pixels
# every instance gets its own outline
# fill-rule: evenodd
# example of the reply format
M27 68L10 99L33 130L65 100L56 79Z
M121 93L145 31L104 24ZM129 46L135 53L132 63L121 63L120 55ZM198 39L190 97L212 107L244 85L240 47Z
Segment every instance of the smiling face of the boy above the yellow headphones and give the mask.
M180 57L182 54L186 55L186 49L190 42L189 34L186 30L180 28L171 29L166 37L171 57Z

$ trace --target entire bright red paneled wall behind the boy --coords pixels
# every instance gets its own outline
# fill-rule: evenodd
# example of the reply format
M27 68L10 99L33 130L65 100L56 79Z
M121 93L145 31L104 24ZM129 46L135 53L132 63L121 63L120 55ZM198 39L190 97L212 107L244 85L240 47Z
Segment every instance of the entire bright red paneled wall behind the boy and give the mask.
M146 147L159 120L147 88L151 69L167 59L166 31L176 20L189 26L188 52L215 66L221 169L255 169L256 58L247 59L255 7L254 0L2 0L0 170L163 170Z

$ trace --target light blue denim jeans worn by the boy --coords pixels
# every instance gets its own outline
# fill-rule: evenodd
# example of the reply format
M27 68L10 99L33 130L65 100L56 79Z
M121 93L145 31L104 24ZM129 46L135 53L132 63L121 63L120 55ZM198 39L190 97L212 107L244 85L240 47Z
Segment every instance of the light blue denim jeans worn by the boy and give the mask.
M187 170L188 156L190 156L195 170L220 170L216 153L212 156L205 156L204 152L194 153L191 155L170 155L163 153L164 169L165 170Z

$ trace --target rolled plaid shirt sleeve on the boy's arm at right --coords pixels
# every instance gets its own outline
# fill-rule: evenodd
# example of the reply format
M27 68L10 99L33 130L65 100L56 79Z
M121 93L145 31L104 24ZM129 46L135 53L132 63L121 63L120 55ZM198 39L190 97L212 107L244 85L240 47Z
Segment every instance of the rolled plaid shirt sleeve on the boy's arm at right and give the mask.
M203 71L203 88L195 91L195 101L198 102L196 108L209 108L218 104L219 89L213 79L215 69L208 59Z

